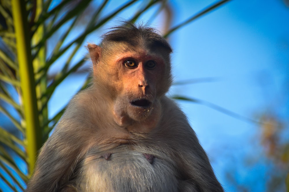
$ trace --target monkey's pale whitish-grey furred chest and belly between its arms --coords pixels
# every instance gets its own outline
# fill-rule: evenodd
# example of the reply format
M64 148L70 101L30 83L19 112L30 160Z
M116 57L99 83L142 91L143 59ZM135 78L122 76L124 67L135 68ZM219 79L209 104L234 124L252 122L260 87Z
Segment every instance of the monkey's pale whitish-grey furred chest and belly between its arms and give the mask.
M80 191L177 191L176 171L168 159L129 149L88 155Z

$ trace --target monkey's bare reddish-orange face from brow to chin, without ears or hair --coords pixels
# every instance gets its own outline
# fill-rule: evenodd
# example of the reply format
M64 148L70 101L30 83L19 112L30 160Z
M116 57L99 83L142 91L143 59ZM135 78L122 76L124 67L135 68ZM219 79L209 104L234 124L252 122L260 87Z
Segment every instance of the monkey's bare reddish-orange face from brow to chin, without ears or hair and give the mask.
M159 85L162 85L165 63L160 55L145 50L116 54L113 79L118 96L114 100L114 115L121 124L132 121L154 121L160 108Z

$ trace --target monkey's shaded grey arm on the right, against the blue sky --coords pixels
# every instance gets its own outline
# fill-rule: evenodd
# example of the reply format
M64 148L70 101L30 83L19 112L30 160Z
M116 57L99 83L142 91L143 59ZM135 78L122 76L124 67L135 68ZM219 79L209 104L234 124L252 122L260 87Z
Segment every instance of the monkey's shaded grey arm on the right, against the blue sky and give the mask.
M210 161L204 149L201 147L199 140L188 123L187 117L177 107L177 105L167 105L172 103L170 101L163 102L164 117L163 127L168 130L163 130L167 141L175 141L178 143L170 142L168 145L173 149L175 155L175 162L177 162L178 169L180 170L180 177L183 180L181 191L223 191L223 187L218 182ZM193 190L192 190L193 189Z

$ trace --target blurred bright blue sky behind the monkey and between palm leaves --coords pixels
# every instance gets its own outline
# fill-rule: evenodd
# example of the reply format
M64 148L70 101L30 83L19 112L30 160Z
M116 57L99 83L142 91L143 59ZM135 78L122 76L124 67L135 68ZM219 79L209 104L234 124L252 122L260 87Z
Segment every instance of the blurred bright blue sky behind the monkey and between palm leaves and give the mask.
M108 1L102 16L125 2ZM168 0L164 10L157 12L162 5L156 4L143 12L137 22L148 23L165 34L216 2ZM52 1L50 9L58 3ZM99 4L91 3L64 44L81 33ZM143 1L136 1L88 35L71 62L76 63L87 54L87 42L98 44L107 28L129 20L142 4ZM70 25L67 22L62 27ZM59 30L47 41L47 55L61 33ZM178 98L225 190L285 191L289 172L288 1L231 0L177 29L168 41L174 50L174 85L168 96ZM66 57L64 54L49 68L50 78L62 70ZM79 91L89 70L87 61L55 89L48 102L49 118ZM10 127L11 131L13 126L9 123L6 115L0 113L0 126ZM10 190L4 183L1 185L0 178L0 189Z

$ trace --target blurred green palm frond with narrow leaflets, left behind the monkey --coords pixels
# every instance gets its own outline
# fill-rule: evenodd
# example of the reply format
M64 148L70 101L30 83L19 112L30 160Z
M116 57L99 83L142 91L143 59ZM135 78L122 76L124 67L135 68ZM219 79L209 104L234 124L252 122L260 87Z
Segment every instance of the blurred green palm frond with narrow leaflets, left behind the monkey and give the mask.
M168 30L166 36L225 1L220 2ZM111 5L108 9L109 3L108 0L1 1L2 189L13 191L25 189L25 183L34 168L36 154L64 111L63 108L49 118L48 102L55 89L86 63L85 56L77 62L73 59L85 45L88 35L101 29L126 10L133 13L129 15L129 20L135 22L145 11L154 7L156 11L153 17L165 11L167 26L170 24L171 9L165 0L129 0L114 9L111 9ZM52 75L48 73L59 60L62 63L60 69ZM85 88L87 83L88 80L82 88Z

